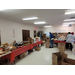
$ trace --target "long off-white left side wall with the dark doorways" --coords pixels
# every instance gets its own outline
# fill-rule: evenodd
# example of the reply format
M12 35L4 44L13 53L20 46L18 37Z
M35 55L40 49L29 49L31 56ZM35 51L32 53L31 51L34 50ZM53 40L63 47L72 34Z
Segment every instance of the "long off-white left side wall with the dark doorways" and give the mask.
M15 29L15 37L13 37L13 28ZM14 40L22 41L22 29L30 30L30 37L34 38L33 31L35 28L37 28L37 31L40 30L37 26L25 25L0 18L1 43L8 42L11 44Z

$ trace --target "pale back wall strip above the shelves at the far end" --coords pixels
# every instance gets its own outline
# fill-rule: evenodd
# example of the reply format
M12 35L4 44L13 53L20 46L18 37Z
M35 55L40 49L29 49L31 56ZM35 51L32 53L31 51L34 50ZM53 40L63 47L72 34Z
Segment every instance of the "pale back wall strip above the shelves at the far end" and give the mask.
M63 31L63 32L74 32L75 33L75 25L72 27L63 27L61 25L53 26L52 28L41 28L44 32L56 32L56 31Z

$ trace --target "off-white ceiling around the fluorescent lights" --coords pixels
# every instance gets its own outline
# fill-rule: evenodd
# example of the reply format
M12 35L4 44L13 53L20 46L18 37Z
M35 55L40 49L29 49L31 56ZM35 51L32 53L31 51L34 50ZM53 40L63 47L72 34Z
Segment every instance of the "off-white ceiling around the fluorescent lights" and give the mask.
M27 25L34 25L34 22L46 21L44 25L37 25L43 27L45 25L62 25L64 19L75 17L73 15L65 15L65 11L70 9L5 9L0 11L0 18L21 22ZM22 18L35 17L39 19L23 21Z

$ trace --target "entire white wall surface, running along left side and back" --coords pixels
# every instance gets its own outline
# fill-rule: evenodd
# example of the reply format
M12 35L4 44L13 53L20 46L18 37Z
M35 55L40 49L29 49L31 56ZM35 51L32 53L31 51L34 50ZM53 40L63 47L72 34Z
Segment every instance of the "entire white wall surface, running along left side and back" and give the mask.
M13 37L13 28L15 29L15 37ZM58 25L53 26L52 28L39 28L37 26L25 25L0 18L1 43L8 42L11 44L14 40L22 41L22 29L30 30L30 37L34 38L33 33L35 28L37 28L37 31L44 32L66 31L75 33L74 25L72 27L62 27L61 25Z

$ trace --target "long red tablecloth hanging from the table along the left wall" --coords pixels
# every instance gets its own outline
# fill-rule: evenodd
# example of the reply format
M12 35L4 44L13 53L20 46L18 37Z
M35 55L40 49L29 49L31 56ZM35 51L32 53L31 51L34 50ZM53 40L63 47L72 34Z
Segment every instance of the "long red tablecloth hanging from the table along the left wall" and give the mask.
M28 50L32 50L33 47L35 47L35 46L37 46L37 45L39 45L39 44L41 44L41 43L42 43L42 41L39 41L39 42L37 42L37 43L30 44L30 45L24 46L24 47L22 47L22 48L18 48L18 49L16 49L16 50L12 51L11 54L7 55L6 58L7 58L7 59L10 59L10 62L12 63L12 62L15 60L15 57L16 57L16 56L18 56L18 55L20 55L20 54L22 54L22 53L24 53L24 52L26 52L26 51L28 51Z

